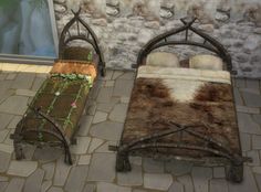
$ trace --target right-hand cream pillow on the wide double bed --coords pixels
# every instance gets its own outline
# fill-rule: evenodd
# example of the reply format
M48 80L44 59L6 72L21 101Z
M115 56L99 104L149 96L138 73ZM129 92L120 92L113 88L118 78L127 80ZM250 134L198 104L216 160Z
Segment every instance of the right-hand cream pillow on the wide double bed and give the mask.
M222 71L223 62L220 57L213 55L196 55L189 58L190 68Z

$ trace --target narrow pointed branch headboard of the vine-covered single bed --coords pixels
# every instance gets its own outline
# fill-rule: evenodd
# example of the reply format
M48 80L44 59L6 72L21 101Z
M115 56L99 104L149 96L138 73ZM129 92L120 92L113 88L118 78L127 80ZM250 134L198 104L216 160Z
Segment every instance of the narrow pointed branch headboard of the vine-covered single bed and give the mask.
M60 40L59 40L59 58L63 60L64 58L64 51L67 47L67 44L74 40L82 40L87 42L88 44L92 45L96 54L98 55L98 67L102 71L102 75L104 76L105 73L105 62L104 62L104 56L103 53L98 46L98 41L96 34L93 32L93 30L87 25L85 21L83 21L80 18L80 12L81 9L77 12L74 12L72 10L74 17L71 19L66 25L63 28L63 31L61 33ZM73 24L76 23L76 34L71 34L70 29L73 26ZM81 33L80 31L80 24L84 28L85 33Z

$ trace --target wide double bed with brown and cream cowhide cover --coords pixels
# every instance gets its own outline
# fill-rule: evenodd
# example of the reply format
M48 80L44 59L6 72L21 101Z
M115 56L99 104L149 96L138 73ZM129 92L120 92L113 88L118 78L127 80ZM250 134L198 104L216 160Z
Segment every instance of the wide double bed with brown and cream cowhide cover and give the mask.
M225 47L181 20L184 26L150 40L137 60L116 170L130 171L129 156L226 166L227 179L241 182L243 162L230 73ZM202 43L190 40L197 34ZM185 35L175 40L175 35ZM199 38L198 38L199 39ZM213 53L179 62L168 45L194 45ZM226 65L225 65L226 64ZM225 68L227 71L225 71Z

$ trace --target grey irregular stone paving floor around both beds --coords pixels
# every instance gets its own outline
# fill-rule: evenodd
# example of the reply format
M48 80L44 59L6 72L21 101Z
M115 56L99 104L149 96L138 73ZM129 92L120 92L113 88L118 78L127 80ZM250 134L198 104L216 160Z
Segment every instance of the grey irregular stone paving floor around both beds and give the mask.
M0 192L261 192L261 85L234 79L242 150L253 162L244 166L244 181L232 184L222 167L164 162L132 157L133 171L115 172L116 145L123 131L134 72L108 71L93 87L81 119L73 166L63 151L24 146L25 160L17 161L9 139L28 103L50 67L0 65Z

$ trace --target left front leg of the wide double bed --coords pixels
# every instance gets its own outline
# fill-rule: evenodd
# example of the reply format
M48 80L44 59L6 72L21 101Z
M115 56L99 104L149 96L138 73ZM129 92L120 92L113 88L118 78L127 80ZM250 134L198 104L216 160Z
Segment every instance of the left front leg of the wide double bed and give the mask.
M132 166L129 163L128 154L117 152L116 157L116 171L128 172L132 171Z

